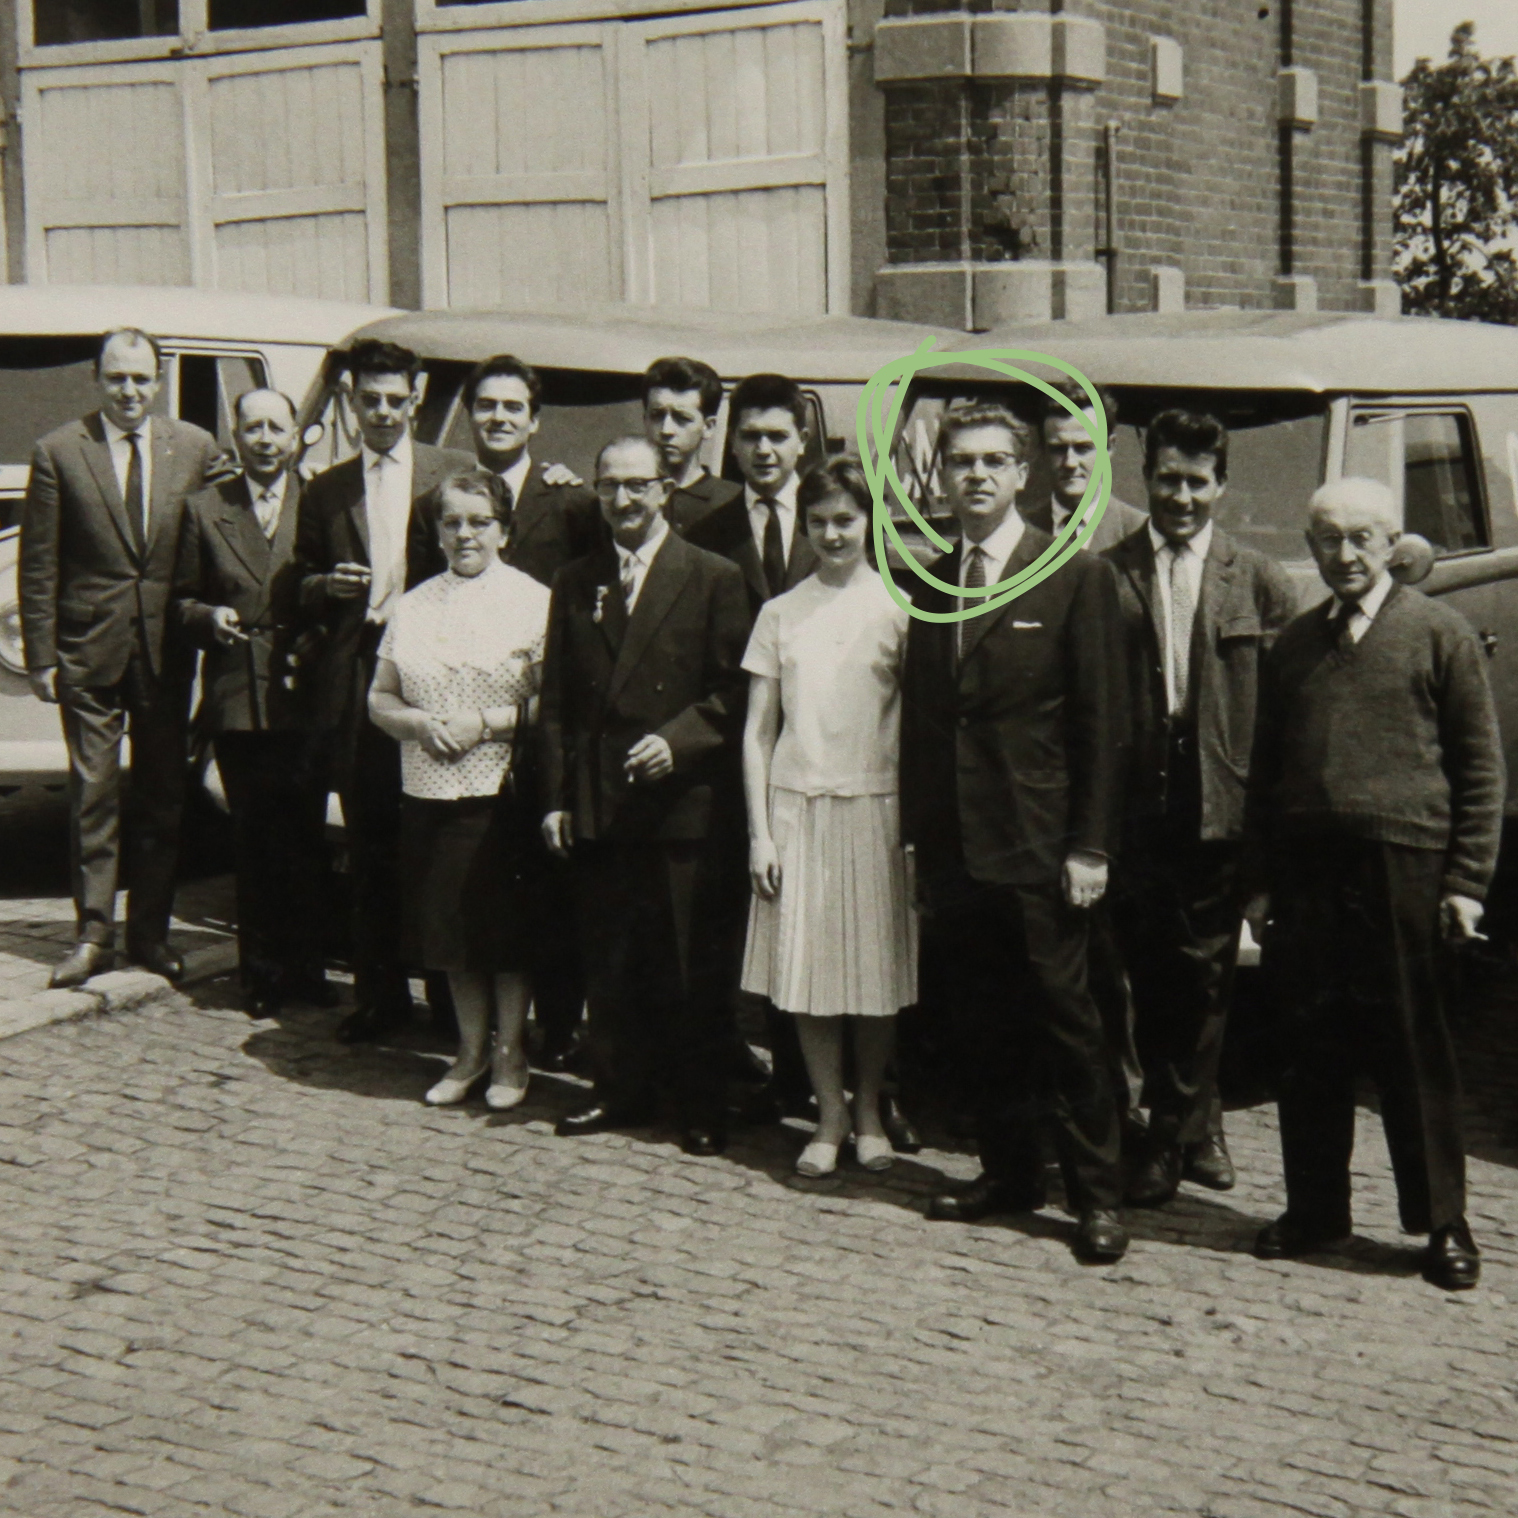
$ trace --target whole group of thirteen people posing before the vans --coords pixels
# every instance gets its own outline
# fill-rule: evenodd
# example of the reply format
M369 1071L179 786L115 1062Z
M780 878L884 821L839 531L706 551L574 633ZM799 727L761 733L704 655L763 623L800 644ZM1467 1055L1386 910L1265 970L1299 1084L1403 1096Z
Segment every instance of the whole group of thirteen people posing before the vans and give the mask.
M518 358L465 387L474 455L411 437L414 354L363 340L348 367L361 448L310 481L275 392L238 398L235 468L150 414L158 351L137 331L102 342L100 411L38 445L23 628L62 707L79 917L55 984L111 958L123 814L128 953L181 972L199 648L250 1009L335 1003L314 926L335 789L355 978L339 1037L392 1032L427 972L458 1028L431 1104L484 1087L518 1105L530 1009L534 1063L562 1069L583 1005L592 1093L557 1131L668 1107L688 1152L718 1154L730 1087L754 1078L742 991L767 1008L774 1082L811 1085L798 1172L850 1142L885 1169L921 956L982 1164L929 1217L1041 1207L1047 1131L1076 1254L1111 1261L1125 1205L1234 1184L1217 1072L1248 917L1284 1063L1287 1208L1257 1252L1350 1234L1369 1073L1430 1280L1475 1283L1442 964L1480 934L1503 761L1474 633L1392 575L1384 484L1307 504L1330 594L1298 615L1286 571L1214 519L1217 419L1155 416L1146 510L1114 498L1093 528L1084 389L1035 424L956 402L937 471L959 540L926 578L897 574L912 615L871 559L859 463L803 471L808 402L782 375L733 389L741 478L723 480L701 461L720 378L659 360L644 433L607 442L586 487L533 458L542 389ZM1050 490L1031 502L1040 451Z

